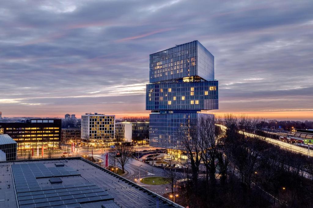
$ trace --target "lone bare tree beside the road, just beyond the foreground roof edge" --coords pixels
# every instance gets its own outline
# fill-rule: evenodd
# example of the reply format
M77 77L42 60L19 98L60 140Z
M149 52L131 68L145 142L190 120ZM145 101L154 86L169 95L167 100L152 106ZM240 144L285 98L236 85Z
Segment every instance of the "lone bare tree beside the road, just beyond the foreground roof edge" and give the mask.
M115 148L111 150L111 158L116 157L116 161L121 165L123 173L124 167L128 160L132 157L132 151L133 147L132 146L126 146L122 145L122 143L117 142L115 144Z

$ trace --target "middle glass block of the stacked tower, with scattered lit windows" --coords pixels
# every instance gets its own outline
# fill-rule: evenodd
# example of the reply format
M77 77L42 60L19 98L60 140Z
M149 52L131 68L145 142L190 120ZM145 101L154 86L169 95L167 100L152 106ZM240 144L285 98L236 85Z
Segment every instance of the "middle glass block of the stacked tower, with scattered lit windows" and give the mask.
M218 109L218 81L146 85L146 110Z

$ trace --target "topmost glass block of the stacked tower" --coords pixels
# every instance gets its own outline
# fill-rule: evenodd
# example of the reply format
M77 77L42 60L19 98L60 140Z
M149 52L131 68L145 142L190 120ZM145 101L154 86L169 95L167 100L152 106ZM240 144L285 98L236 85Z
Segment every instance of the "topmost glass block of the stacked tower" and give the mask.
M214 80L214 56L199 41L150 55L150 83L193 76Z

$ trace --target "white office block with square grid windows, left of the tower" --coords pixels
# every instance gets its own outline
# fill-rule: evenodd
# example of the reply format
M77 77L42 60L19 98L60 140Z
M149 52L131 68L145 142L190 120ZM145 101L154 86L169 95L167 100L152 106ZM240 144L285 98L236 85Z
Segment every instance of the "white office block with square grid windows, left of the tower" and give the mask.
M81 116L81 141L96 145L114 139L115 115L85 114Z

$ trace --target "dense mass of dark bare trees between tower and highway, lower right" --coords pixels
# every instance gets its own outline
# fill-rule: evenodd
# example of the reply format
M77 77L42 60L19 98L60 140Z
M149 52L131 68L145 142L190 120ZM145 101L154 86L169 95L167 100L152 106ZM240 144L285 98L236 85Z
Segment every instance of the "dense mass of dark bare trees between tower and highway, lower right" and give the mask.
M185 150L181 154L187 160L179 161L187 168L182 175L167 176L176 178L181 204L312 207L312 159L265 141L266 125L264 119L229 114L182 127L177 149Z

